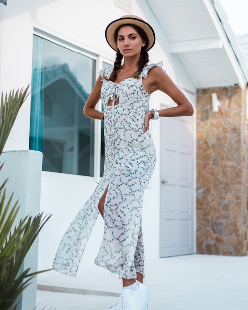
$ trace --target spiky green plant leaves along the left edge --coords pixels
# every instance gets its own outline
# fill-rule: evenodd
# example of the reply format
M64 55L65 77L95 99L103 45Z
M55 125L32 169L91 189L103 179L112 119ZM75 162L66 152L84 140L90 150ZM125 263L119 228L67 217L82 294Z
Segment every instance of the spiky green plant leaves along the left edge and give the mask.
M0 155L7 141L11 128L17 117L20 107L26 100L28 88L19 89L3 99L1 96L0 110ZM0 171L4 163L0 163ZM20 205L15 202L11 208L13 193L6 201L6 179L0 186L0 309L13 310L17 308L16 300L23 290L30 284L30 281L39 273L53 269L47 269L29 273L30 268L20 274L23 260L28 253L31 245L38 236L43 225L51 217L44 221L42 213L35 217L26 216L20 219L19 225L13 229L13 224L18 214ZM42 223L44 221L44 223Z

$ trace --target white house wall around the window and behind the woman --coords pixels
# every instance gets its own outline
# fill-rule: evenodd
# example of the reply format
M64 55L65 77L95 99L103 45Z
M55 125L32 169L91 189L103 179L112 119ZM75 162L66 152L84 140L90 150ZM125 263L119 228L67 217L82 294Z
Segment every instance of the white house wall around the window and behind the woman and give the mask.
M108 0L11 0L7 6L2 5L0 9L4 11L3 21L0 21L0 29L4 29L0 59L3 79L0 91L4 90L4 93L13 87L17 89L31 83L34 25L81 48L114 59L115 52L105 41L105 27L110 21L126 14ZM133 14L143 17L154 27L157 42L149 52L151 62L162 60L163 68L178 86L195 92L195 87L177 56L168 53L168 40L147 2L134 2ZM185 94L187 96L187 93ZM194 97L193 95L191 99ZM172 100L161 92L152 95L151 107L159 109L161 102L172 103ZM30 96L18 115L5 150L28 149L29 119ZM144 196L143 230L146 259L159 257L159 121L151 121L149 129L158 158ZM95 187L96 180L91 177L42 173L41 211L53 215L39 237L38 270L51 268L63 233ZM93 264L102 234L103 220L99 216L83 256L84 263Z

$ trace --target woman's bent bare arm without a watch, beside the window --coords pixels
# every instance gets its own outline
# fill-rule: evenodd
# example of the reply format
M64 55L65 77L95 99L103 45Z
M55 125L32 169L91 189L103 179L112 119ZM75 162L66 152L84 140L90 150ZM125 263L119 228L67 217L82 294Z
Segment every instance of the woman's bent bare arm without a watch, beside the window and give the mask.
M83 114L86 117L91 117L95 119L103 119L104 113L95 109L95 106L101 98L101 86L102 86L102 77L99 75L93 90L91 91L85 105L83 108Z

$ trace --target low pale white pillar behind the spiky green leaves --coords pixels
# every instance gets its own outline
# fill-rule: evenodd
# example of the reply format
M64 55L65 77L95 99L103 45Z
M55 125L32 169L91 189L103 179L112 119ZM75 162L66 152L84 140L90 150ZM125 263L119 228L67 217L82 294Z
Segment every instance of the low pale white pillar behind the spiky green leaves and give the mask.
M18 205L21 205L13 225L14 229L19 224L20 218L23 219L26 215L34 217L40 211L42 153L32 150L7 151L2 153L0 161L5 162L0 171L0 184L9 177L6 194L9 197L14 192L10 209L17 200L19 200ZM19 273L28 268L31 268L29 273L37 271L38 237L24 258ZM21 301L17 310L35 309L36 290L37 276L19 296L18 301Z

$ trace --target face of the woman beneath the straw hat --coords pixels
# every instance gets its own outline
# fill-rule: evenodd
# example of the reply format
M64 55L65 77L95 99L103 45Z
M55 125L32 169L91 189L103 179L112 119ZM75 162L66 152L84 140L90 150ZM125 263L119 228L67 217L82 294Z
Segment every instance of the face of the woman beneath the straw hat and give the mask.
M141 36L132 26L123 26L118 31L117 47L124 57L131 57L141 52L145 45Z

